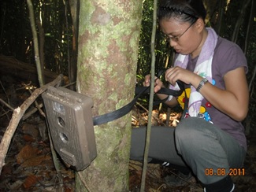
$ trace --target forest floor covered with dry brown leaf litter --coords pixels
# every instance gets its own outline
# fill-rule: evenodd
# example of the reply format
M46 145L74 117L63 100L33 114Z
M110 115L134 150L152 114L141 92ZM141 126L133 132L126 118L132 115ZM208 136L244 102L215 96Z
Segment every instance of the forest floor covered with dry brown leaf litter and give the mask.
M20 83L9 76L2 77L0 80L0 98L13 105L13 108L21 105L30 96L28 87L32 87L31 83ZM158 113L158 110L154 110L155 114L158 114L158 117L154 118L154 124L164 125L166 113L163 111ZM133 125L147 122L147 111L140 105L137 106L132 115ZM5 134L11 117L12 111L0 102L0 141ZM172 119L172 122L175 123L176 121ZM66 168L64 164L61 164L58 172L54 167L46 130L45 120L38 112L25 120L20 120L9 145L5 165L0 174L0 192L75 191L74 171L71 168ZM250 135L247 136L247 139L248 151L244 164L245 175L232 177L236 184L236 191L239 192L256 191L256 137ZM139 191L142 167L142 163L130 161L129 190L131 192ZM175 169L165 167L162 164L148 164L145 191L202 191L202 186L196 179L187 181L184 186L166 185L165 176L175 175L175 173Z

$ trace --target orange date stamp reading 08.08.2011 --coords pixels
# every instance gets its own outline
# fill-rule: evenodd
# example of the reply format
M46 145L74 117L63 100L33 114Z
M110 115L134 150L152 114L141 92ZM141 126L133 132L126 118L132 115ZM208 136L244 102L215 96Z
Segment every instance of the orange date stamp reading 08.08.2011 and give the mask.
M213 168L205 168L205 175L206 176L244 176L245 175L245 169L244 168L229 168L228 171L225 168L217 168L217 170L214 170Z

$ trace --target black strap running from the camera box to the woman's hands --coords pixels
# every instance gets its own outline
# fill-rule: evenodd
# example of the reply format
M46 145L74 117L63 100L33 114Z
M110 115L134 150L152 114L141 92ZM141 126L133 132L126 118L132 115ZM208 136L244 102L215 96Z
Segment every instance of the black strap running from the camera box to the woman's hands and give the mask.
M182 83L180 81L177 81L177 83L180 87L180 90L170 90L167 88L161 88L161 90L158 91L158 94L168 94L168 95L173 95L174 97L180 96L180 94L182 94L184 91L184 83ZM138 98L142 94L148 94L148 93L150 93L150 87L136 87L135 94L137 94L137 95L132 100L132 102L129 102L127 105L124 105L124 107L122 107L121 109L117 109L116 111L106 113L101 116L95 116L93 118L93 124L94 125L106 124L109 121L119 119L120 117L126 115L127 113L129 113L132 110L132 107L135 105L135 102L138 100ZM169 97L167 97L167 98L169 98ZM164 100L160 100L160 102L165 102L167 100L167 98L165 98ZM156 104L154 104L154 105L156 105Z

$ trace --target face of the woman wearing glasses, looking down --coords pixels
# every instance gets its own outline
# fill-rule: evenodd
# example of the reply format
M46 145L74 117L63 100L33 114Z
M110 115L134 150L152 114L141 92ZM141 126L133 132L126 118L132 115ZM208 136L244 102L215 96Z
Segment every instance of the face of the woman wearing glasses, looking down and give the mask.
M196 28L195 23L182 23L174 18L162 19L159 24L161 31L168 37L170 46L179 54L200 53L202 33ZM198 52L198 53L197 53Z

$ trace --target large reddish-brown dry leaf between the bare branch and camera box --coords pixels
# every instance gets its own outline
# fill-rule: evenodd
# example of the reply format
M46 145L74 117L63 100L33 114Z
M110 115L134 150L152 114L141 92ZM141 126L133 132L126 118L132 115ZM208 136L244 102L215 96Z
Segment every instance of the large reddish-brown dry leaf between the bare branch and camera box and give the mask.
M24 146L20 153L17 154L17 163L22 164L24 161L36 157L39 149L30 145Z

